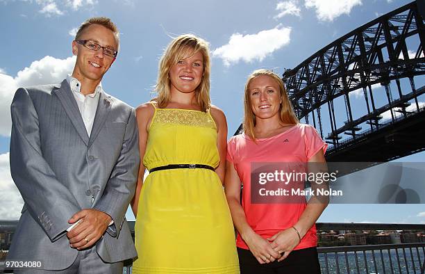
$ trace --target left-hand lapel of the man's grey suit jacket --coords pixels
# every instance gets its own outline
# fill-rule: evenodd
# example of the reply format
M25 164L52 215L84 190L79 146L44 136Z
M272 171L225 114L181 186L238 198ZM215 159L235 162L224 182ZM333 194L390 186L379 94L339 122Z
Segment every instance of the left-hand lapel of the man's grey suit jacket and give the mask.
M81 137L81 139L83 139L85 145L88 146L89 136L87 134L87 130L85 129L83 118L81 118L81 113L78 110L78 106L75 102L74 96L72 95L72 91L67 80L63 80L60 88L54 92L56 96L58 96L59 101L65 109L65 112L67 113L72 124L74 124L78 135Z

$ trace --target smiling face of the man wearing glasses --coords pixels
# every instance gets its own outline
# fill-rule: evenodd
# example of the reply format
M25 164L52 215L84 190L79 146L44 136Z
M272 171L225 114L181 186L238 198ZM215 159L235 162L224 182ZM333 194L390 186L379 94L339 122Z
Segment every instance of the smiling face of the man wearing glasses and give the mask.
M90 40L102 47L118 50L118 40L113 31L98 24L88 26L78 40ZM72 53L77 56L72 76L79 81L100 81L115 61L114 57L103 54L102 48L94 51L75 41L72 42Z

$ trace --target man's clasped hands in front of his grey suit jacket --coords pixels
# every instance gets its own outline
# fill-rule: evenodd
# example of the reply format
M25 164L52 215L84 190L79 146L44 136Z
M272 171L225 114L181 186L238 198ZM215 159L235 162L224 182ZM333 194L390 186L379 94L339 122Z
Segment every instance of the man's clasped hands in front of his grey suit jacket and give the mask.
M96 209L83 209L74 214L68 223L73 224L81 221L71 231L67 232L67 237L72 248L83 250L90 248L105 233L112 218L102 211Z

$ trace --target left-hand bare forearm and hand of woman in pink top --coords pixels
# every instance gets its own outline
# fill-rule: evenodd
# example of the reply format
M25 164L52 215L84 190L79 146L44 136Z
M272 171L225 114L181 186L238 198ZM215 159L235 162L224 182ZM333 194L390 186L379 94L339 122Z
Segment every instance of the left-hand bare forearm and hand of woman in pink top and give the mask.
M281 255L273 250L272 245L256 234L247 222L244 209L240 204L240 187L240 178L233 163L227 162L224 190L236 229L238 229L240 236L247 243L249 250L251 250L260 264L269 263L280 258Z

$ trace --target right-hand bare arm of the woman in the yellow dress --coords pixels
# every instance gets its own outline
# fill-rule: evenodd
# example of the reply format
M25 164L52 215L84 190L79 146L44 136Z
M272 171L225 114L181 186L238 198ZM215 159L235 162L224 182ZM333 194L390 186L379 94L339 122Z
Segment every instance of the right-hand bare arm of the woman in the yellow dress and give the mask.
M217 106L211 106L210 113L217 125L217 149L220 156L220 163L215 172L223 183L226 172L227 121L223 111Z

